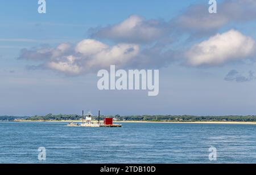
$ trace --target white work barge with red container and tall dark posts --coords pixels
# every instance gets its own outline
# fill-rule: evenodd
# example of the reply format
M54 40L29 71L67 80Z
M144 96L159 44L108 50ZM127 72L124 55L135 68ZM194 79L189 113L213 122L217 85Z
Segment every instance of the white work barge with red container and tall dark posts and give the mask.
M113 124L113 118L104 118L104 122L100 121L100 110L98 111L98 121L92 121L92 113L88 112L85 114L84 121L84 110L82 110L82 123L68 123L67 126L82 126L82 127L122 127L121 124Z

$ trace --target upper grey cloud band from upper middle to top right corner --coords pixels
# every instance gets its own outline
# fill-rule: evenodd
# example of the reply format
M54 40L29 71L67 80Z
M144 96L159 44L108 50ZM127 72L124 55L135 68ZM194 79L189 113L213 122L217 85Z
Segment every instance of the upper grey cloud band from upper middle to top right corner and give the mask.
M256 1L226 0L218 3L217 14L210 14L208 3L189 6L183 13L167 22L146 20L131 15L118 24L91 29L92 37L117 42L147 43L177 33L209 36L229 23L245 23L256 19Z

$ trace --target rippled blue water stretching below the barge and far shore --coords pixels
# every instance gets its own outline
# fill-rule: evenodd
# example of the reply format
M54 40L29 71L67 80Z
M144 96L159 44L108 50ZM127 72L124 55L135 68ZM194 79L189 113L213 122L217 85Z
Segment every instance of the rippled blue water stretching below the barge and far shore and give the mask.
M256 125L0 122L0 163L256 163ZM208 158L216 147L217 160ZM46 161L38 148L46 148Z

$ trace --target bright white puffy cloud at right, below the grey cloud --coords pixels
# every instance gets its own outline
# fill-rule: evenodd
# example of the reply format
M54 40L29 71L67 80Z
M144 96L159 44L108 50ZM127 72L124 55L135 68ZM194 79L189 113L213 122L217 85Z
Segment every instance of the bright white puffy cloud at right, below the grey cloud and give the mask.
M192 66L220 65L252 56L254 50L255 41L251 37L231 29L193 45L186 56Z

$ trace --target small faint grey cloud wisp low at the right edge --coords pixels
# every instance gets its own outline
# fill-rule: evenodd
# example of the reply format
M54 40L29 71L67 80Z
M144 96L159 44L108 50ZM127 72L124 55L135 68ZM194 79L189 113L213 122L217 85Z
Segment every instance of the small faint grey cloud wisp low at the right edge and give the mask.
M228 74L225 76L224 80L229 82L250 82L251 80L255 80L254 72L249 71L248 75L242 75L237 70L230 70Z

